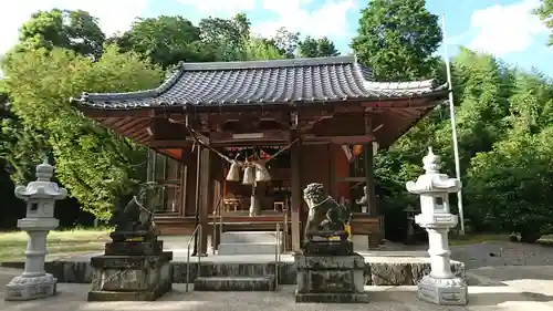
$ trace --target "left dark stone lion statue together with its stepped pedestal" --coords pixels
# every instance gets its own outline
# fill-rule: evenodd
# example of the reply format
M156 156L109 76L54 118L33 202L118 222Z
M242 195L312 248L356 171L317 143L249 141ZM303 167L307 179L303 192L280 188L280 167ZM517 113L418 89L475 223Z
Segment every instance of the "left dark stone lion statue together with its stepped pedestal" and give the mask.
M88 301L154 301L171 290L171 251L164 251L153 221L163 188L143 185L137 196L115 211L116 227L103 256L93 257Z

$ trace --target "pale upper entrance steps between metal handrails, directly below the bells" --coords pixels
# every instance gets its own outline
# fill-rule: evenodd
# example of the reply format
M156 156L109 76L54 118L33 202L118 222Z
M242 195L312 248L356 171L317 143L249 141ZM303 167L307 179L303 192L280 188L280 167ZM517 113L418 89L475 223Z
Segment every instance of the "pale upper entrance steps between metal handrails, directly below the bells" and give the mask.
M282 251L282 232L279 235L275 231L222 232L217 255L274 255L276 250Z

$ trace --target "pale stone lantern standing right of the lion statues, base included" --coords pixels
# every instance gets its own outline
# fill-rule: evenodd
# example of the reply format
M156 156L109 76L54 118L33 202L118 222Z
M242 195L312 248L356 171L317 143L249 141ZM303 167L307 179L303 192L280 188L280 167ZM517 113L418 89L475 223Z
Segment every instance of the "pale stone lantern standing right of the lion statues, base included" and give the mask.
M415 216L415 222L427 230L429 242L430 274L418 283L417 296L437 304L465 305L467 283L451 272L448 242L448 231L458 221L449 209L449 194L459 191L461 182L439 173L440 157L431 148L422 163L426 173L406 185L409 193L420 196L421 212Z

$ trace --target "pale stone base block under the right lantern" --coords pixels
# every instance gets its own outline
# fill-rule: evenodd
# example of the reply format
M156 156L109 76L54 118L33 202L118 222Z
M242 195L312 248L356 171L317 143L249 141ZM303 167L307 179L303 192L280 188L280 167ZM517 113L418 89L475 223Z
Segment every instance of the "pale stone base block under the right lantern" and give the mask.
M417 297L430 303L466 305L469 302L467 282L461 278L437 279L425 276L417 287Z

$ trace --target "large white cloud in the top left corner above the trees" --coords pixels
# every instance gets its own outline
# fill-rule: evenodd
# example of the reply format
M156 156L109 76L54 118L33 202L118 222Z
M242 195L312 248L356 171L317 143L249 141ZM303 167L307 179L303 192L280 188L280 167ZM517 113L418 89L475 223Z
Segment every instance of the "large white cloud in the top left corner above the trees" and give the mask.
M148 0L17 0L2 2L0 18L0 55L18 40L18 30L39 10L84 10L100 19L102 30L111 35L131 28L133 20L146 9Z

